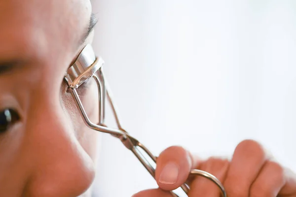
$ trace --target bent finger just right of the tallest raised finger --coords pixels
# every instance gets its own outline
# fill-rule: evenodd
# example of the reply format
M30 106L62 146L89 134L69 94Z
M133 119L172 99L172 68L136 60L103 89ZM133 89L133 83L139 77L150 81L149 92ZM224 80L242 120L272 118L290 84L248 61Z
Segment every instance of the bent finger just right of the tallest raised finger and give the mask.
M268 161L252 184L250 197L277 197L284 184L284 168L280 164Z

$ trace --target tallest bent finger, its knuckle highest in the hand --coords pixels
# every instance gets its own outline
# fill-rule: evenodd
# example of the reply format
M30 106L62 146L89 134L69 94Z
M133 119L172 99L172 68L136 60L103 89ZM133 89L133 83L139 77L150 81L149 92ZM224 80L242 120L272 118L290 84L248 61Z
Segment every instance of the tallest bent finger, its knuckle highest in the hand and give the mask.
M250 187L267 156L256 141L242 141L235 149L224 187L228 197L249 197Z

